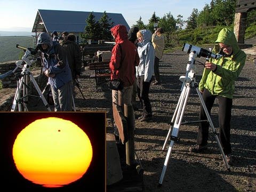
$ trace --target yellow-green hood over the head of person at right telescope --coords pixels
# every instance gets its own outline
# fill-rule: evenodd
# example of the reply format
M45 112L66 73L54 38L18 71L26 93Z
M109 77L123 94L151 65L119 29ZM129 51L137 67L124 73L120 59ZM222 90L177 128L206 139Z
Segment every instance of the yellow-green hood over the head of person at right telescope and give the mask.
M233 47L233 55L236 55L238 53L238 51L240 50L233 30L230 30L228 28L223 28L220 31L215 43L224 43L228 46L232 46ZM220 51L220 46L218 44L215 45L213 50L216 53L218 53Z

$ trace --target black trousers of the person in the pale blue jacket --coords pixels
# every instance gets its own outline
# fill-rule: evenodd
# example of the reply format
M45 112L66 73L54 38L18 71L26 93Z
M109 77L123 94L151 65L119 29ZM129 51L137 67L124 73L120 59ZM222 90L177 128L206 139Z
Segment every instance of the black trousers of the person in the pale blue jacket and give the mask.
M144 76L137 78L138 98L140 100L141 107L143 108L143 115L146 117L152 116L152 107L148 97L150 84L151 84L151 79L149 82L145 82Z

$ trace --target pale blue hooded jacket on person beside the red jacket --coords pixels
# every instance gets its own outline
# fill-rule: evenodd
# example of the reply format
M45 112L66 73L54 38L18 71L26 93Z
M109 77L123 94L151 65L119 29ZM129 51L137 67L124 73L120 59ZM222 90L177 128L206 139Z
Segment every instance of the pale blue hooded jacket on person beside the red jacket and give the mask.
M155 60L155 50L151 43L152 33L147 29L140 30L140 32L143 34L143 41L138 43L140 64L137 67L136 77L145 76L144 81L150 82L154 75Z

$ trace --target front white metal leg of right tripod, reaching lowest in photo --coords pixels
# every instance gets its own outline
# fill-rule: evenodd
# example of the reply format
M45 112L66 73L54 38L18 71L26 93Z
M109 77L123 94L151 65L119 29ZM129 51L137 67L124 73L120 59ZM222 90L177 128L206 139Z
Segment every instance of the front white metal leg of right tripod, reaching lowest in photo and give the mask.
M172 152L172 149L173 149L174 142L178 140L179 128L180 128L182 118L183 118L183 114L184 114L184 111L185 111L185 108L186 108L186 105L187 105L189 92L190 92L190 87L187 87L187 86L183 87L178 105L175 109L175 114L174 114L175 118L173 116L175 121L174 121L174 124L172 126L173 129L172 129L172 135L171 135L171 143L170 143L170 146L169 146L168 151L167 151L167 155L166 155L166 158L165 158L164 167L163 167L163 171L162 171L159 183L158 183L158 187L162 186L164 175L165 175L165 172L166 172L166 169L167 169L167 165L169 163L169 159L170 159L170 155L171 155L171 152ZM169 130L169 132L170 132L170 130ZM170 137L168 136L166 138L166 140L169 140L169 138ZM165 140L165 142L167 142L166 140ZM165 148L165 146L163 148Z

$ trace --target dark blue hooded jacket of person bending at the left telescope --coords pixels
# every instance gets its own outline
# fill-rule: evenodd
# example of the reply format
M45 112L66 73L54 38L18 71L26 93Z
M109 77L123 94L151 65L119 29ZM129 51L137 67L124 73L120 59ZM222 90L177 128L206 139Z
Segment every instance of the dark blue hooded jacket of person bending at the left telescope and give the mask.
M42 44L48 45L47 50L42 49ZM55 77L49 77L48 81L54 90L58 90L62 85L72 80L67 54L63 47L58 42L52 41L47 33L39 35L37 45L42 51L44 72L48 69L50 74L55 74Z

